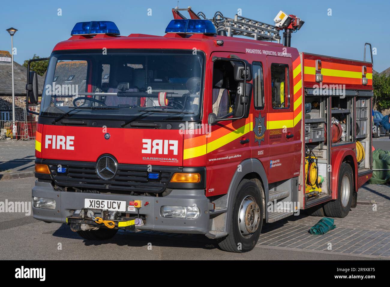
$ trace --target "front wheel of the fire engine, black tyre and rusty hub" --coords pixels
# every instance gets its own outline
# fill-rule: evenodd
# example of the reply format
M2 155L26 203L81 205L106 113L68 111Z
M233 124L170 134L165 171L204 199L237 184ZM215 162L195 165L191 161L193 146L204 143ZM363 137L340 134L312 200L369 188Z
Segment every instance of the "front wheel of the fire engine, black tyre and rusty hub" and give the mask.
M262 197L262 189L254 181L240 182L230 212L229 235L218 242L222 250L244 253L255 247L263 225Z

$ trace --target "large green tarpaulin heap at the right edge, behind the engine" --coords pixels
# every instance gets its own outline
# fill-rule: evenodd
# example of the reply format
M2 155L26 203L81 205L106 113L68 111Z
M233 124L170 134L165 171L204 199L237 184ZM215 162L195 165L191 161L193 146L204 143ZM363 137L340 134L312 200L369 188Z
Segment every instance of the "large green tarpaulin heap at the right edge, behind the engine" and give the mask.
M390 151L378 148L372 152L372 178L370 184L390 182Z

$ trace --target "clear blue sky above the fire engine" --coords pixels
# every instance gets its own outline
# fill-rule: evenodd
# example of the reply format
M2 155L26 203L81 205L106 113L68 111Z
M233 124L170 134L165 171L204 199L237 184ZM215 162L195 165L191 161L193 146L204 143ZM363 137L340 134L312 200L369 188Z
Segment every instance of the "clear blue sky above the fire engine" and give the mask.
M48 57L55 44L68 39L74 24L80 21L114 21L125 36L163 35L176 5L177 0L12 0L0 9L0 50L11 50L11 39L5 31L11 26L19 30L14 36L14 59L19 63L34 53ZM374 69L381 72L390 67L390 32L387 17L381 18L390 10L389 1L179 1L181 8L189 5L195 12L204 12L207 18L212 18L216 11L233 17L241 9L243 16L270 24L283 10L305 21L291 41L291 46L300 52L363 60L364 43L369 42L377 51ZM62 9L62 16L57 15L58 8ZM152 16L147 15L149 8ZM332 16L328 16L328 9L332 9Z

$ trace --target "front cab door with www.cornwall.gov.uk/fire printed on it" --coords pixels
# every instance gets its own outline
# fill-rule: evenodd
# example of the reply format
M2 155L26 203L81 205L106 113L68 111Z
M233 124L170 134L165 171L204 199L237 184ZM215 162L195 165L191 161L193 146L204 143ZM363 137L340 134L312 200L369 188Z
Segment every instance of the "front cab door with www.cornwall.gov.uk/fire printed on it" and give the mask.
M215 52L211 57L230 58L230 53ZM234 117L238 82L234 79L233 65L230 61L215 60L212 63L212 81L206 98L206 115L213 112L218 121L212 125L207 137L207 176L206 196L227 193L234 173L239 164L251 157L250 116L248 118L229 120ZM211 83L212 82L212 83ZM247 108L250 103L247 104Z

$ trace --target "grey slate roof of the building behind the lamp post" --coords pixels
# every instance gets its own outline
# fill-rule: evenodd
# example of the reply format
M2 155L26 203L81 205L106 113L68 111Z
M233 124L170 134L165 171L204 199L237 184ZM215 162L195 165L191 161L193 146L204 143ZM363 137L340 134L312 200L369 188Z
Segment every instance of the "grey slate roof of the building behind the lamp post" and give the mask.
M11 57L8 51L0 51L0 56ZM37 75L39 93L42 93L44 78ZM21 96L26 94L27 68L14 61L14 92ZM11 62L0 61L0 95L12 94L12 66Z

